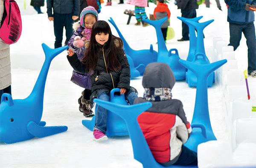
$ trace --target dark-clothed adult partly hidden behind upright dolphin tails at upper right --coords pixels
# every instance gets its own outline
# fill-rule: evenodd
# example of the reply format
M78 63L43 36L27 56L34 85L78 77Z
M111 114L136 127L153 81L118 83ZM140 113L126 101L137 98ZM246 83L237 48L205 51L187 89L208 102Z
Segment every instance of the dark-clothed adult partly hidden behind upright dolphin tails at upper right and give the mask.
M196 17L196 9L198 9L197 0L176 0L178 9L181 9L181 17ZM189 26L182 22L182 38L178 41L189 41Z

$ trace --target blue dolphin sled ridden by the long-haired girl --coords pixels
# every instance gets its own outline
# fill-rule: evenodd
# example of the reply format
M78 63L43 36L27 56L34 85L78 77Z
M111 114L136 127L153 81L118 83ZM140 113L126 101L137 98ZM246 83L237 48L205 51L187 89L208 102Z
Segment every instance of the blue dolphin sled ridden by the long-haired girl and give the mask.
M115 104L128 105L127 101L125 100L125 96L120 95L119 93L120 93L119 88L112 89L110 92L110 101ZM96 116L97 116L98 106L99 105L96 104L96 108L95 108ZM125 121L121 117L119 117L115 113L111 113L110 111L107 111L107 115L108 115L108 119L107 119L106 134L108 137L129 135ZM82 120L82 124L92 131L95 125L95 116L93 116L92 120Z

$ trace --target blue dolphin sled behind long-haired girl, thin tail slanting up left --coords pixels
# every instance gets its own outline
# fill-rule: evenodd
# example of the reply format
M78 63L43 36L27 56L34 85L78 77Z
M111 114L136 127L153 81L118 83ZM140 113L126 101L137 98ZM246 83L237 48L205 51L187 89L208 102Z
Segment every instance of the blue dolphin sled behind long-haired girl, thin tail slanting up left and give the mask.
M112 17L110 17L110 19L108 21L115 27L119 37L122 39L122 41L124 43L125 54L127 54L131 57L131 59L134 62L135 67L139 67L142 65L144 67L146 67L149 63L157 61L157 52L154 51L152 44L150 45L150 49L142 49L142 50L131 49L131 47L129 46L129 44L127 43L125 38L123 37L122 33L116 26L116 23L114 22ZM140 75L143 75L144 70L145 70L145 68L143 69L143 71L139 70L141 72Z

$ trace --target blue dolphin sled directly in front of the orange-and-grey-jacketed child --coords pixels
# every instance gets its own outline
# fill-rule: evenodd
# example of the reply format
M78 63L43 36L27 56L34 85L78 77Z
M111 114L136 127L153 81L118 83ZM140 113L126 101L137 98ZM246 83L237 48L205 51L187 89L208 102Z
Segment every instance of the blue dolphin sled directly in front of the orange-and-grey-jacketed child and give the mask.
M163 62L169 65L172 69L172 72L176 80L183 80L186 78L186 68L179 63L179 54L177 49L170 49L169 52L166 48L166 44L163 39L163 34L161 32L161 25L167 20L165 17L160 20L148 20L143 19L145 23L148 23L154 26L157 33L157 44L158 44L158 53L157 53L157 62ZM173 53L174 52L174 53Z

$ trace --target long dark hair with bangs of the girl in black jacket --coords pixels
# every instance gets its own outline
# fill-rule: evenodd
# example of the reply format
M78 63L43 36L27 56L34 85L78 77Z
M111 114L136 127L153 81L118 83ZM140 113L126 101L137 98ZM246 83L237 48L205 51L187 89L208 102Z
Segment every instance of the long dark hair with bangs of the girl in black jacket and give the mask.
M101 49L99 49L99 43L97 43L95 38L98 33L109 34L108 41L105 43L105 50L108 51L105 53L108 55L106 57L107 69L115 72L121 70L121 64L118 61L116 54L123 50L122 40L112 35L110 26L104 20L98 20L93 24L90 43L88 48L85 50L84 58L82 60L82 63L85 64L86 70L89 73L93 73L98 62L97 56L99 52L101 52Z

